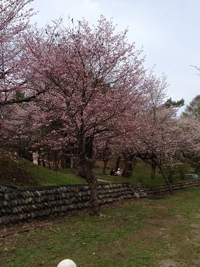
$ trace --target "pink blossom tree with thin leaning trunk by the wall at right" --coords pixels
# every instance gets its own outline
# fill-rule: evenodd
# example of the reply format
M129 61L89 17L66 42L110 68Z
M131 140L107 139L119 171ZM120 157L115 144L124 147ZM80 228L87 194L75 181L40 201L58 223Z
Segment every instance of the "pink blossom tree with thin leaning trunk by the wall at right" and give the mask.
M135 114L134 124L124 126L124 150L155 164L164 176L171 193L164 166L184 162L199 152L199 123L194 119L179 119L177 108L164 105L166 78L157 79L150 75L147 86L151 87L146 105Z

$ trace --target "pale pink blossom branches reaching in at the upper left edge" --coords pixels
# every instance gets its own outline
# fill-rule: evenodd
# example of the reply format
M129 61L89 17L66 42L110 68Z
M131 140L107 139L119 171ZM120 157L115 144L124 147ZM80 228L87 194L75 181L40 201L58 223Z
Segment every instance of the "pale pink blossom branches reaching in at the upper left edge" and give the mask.
M28 5L33 0L0 1L0 109L12 103L29 101L44 89L33 88L27 77L25 34L32 32Z

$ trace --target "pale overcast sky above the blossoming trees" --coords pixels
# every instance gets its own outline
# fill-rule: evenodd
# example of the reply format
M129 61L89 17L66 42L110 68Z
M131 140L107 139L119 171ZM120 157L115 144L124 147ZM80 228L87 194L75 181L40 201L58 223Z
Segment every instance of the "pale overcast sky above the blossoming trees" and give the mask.
M200 0L34 0L33 21L44 27L62 17L83 17L95 24L100 15L112 18L117 30L128 27L128 41L143 47L145 67L168 76L168 97L185 99L200 94Z

